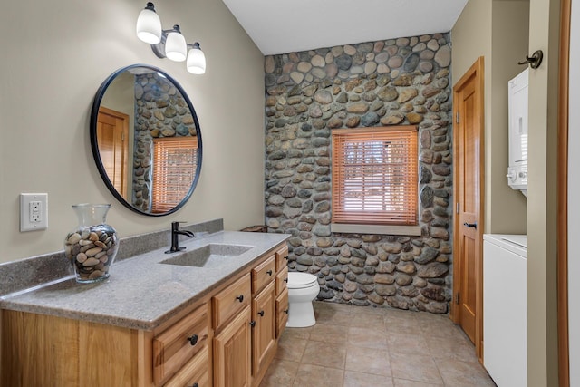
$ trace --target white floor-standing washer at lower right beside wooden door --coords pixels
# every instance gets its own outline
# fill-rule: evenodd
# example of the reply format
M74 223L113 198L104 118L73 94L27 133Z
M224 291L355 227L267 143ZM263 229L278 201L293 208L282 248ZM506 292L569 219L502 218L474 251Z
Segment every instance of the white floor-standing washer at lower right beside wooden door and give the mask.
M527 236L483 236L483 365L498 387L527 387Z

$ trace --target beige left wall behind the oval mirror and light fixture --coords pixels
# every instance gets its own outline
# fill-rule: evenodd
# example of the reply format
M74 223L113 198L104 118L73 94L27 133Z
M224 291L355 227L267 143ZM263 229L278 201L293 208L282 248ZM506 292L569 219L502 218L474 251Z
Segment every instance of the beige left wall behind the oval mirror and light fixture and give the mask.
M221 1L167 0L157 5L164 28L180 24L199 41L208 71L157 58L135 35L145 2L3 5L0 34L0 262L62 249L76 226L71 205L109 202L121 237L224 218L227 229L264 222L264 58ZM118 203L92 160L89 116L94 93L118 68L150 63L188 92L203 135L198 188L176 214L151 218ZM21 192L47 192L49 227L20 233Z

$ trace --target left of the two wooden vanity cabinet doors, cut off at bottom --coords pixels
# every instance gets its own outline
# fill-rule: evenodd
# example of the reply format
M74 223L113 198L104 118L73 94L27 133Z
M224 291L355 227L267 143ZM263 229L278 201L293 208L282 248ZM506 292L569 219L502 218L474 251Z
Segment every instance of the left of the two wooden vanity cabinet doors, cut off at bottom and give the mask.
M249 387L251 382L251 310L247 305L214 337L214 385Z

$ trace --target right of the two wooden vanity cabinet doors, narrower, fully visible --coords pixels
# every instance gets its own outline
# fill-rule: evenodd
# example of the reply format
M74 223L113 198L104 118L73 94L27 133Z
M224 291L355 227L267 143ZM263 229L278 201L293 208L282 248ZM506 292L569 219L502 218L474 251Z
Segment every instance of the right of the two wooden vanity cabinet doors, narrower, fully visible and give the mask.
M275 342L275 282L252 301L252 374L257 375L274 357Z

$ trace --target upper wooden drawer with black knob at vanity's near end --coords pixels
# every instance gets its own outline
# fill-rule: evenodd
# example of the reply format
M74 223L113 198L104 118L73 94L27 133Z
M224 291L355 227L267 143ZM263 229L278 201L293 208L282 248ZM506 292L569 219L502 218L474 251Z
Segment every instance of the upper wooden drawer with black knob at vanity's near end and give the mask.
M207 348L208 305L171 325L153 339L153 382L159 385L177 372L196 353Z

